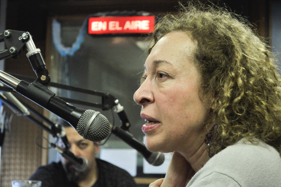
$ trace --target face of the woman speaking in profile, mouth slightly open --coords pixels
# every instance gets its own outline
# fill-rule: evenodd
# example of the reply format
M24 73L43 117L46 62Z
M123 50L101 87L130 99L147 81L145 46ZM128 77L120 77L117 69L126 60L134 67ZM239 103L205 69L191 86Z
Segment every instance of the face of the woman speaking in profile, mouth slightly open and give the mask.
M195 43L171 32L153 47L144 64L143 82L134 94L142 105L142 130L150 151L194 154L204 144L209 109L199 97L200 74L194 66Z

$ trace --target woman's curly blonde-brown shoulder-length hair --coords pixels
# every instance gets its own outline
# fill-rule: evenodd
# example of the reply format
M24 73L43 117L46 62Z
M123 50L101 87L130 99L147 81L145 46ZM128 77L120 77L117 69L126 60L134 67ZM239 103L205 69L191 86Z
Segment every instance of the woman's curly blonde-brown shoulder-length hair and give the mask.
M197 44L194 63L200 96L217 126L209 151L215 154L241 138L262 140L281 155L281 94L269 46L243 17L225 7L190 2L155 26L148 49L165 34L184 31Z

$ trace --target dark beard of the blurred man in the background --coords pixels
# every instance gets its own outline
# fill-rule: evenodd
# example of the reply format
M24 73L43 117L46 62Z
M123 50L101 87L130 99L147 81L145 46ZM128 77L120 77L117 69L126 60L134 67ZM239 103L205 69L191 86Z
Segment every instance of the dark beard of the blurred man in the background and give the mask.
M64 170L69 181L81 181L86 177L85 174L87 173L87 169L84 171L77 171L71 162L67 162L66 165L64 165Z

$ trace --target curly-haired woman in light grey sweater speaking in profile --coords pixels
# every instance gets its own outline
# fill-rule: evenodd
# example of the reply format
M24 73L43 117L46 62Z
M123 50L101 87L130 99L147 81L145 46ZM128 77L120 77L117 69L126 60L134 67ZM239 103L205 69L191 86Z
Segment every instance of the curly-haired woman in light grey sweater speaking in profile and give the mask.
M279 77L248 22L190 3L153 36L134 100L146 147L173 157L150 187L281 186Z

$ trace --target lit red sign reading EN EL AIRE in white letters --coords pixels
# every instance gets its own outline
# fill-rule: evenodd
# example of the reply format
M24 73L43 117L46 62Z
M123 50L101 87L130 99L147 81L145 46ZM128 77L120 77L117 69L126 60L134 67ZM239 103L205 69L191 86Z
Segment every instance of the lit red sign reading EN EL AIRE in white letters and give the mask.
M88 33L151 33L154 25L154 16L92 17L89 18Z

